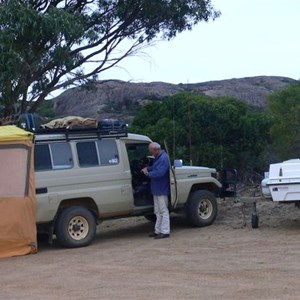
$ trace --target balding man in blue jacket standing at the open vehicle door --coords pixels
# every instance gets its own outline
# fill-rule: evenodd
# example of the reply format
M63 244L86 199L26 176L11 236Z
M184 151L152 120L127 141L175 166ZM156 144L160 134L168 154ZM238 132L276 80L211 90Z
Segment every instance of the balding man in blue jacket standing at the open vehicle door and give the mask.
M168 196L170 194L170 160L167 153L161 150L158 143L149 144L149 152L154 156L153 165L143 168L142 172L151 179L151 192L156 215L155 230L151 237L155 239L170 236L170 215Z

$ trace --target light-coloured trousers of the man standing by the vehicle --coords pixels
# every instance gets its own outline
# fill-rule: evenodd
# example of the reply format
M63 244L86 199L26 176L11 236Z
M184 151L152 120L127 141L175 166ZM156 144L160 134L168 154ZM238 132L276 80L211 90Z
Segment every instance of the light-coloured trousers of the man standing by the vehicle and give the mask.
M170 234L170 214L168 196L153 196L154 214L156 215L155 233Z

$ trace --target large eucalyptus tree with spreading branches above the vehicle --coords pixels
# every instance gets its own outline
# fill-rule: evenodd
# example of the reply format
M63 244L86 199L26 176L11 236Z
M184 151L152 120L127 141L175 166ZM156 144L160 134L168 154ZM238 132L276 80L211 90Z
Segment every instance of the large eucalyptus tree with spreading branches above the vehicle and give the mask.
M51 92L219 15L211 0L2 0L2 115L34 112Z

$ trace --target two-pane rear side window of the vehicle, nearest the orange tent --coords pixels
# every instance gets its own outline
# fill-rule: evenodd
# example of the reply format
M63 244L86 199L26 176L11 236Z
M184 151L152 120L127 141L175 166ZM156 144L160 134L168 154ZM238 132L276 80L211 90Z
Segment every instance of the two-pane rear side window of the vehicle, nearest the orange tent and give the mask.
M70 145L68 143L36 145L34 166L36 171L72 168Z

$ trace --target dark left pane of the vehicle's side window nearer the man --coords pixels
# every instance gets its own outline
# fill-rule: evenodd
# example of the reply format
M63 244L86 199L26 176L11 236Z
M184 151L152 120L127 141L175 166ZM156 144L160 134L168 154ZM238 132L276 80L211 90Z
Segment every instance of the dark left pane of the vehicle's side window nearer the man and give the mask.
M78 142L76 148L80 167L93 167L99 165L95 142Z

